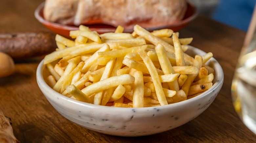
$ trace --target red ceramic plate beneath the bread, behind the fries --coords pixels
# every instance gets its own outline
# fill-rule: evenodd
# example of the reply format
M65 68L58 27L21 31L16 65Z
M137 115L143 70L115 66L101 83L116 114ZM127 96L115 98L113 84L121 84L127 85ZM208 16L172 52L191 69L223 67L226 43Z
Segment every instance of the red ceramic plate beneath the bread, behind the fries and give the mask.
M40 23L42 23L45 27L47 27L48 29L53 31L54 33L62 35L67 38L70 38L69 31L78 30L78 26L63 25L63 24L46 21L44 19L44 15L43 15L43 9L44 9L44 2L36 8L36 10L34 12L35 18ZM168 29L172 29L174 32L176 32L179 29L186 26L191 21L193 21L197 16L198 16L198 11L197 11L196 7L191 4L188 4L185 16L184 16L183 20L181 20L180 22L170 24L170 25L162 25L162 26L158 26L158 27L153 26L153 27L149 27L146 29L148 31L153 31L153 30L168 28ZM107 25L107 24L90 24L90 25L85 24L85 26L88 26L92 31L97 31L99 34L107 33L107 32L115 32L115 30L116 30L116 27ZM124 27L124 32L132 33L133 29L125 29L125 27Z

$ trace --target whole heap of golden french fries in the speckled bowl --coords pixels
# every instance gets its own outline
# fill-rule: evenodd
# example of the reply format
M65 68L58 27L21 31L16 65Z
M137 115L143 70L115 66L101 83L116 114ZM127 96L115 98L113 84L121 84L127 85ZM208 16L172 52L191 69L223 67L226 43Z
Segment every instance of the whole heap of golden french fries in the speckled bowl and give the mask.
M171 29L98 34L80 25L69 40L56 35L58 48L45 56L51 75L45 80L67 97L97 105L151 107L193 98L210 87L212 53L184 52L193 38L179 39Z

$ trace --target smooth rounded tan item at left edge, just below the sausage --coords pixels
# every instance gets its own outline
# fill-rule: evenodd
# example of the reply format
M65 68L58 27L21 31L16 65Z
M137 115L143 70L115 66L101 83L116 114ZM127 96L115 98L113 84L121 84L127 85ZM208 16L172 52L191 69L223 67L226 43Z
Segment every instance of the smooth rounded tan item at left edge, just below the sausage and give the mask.
M14 72L14 62L11 56L0 52L0 77L11 75Z

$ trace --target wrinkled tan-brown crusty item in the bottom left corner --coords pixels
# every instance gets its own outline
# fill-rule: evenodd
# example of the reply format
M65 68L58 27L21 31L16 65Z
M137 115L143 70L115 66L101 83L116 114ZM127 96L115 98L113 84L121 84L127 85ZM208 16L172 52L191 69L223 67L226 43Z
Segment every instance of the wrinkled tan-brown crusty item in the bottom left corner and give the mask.
M0 142L1 143L19 143L13 135L12 127L8 118L0 110Z

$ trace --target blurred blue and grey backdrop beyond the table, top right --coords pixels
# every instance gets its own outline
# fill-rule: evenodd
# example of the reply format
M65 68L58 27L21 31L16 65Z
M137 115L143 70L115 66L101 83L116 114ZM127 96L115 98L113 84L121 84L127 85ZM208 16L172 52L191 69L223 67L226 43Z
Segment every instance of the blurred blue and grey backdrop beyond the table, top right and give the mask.
M256 0L188 0L200 14L247 31Z

